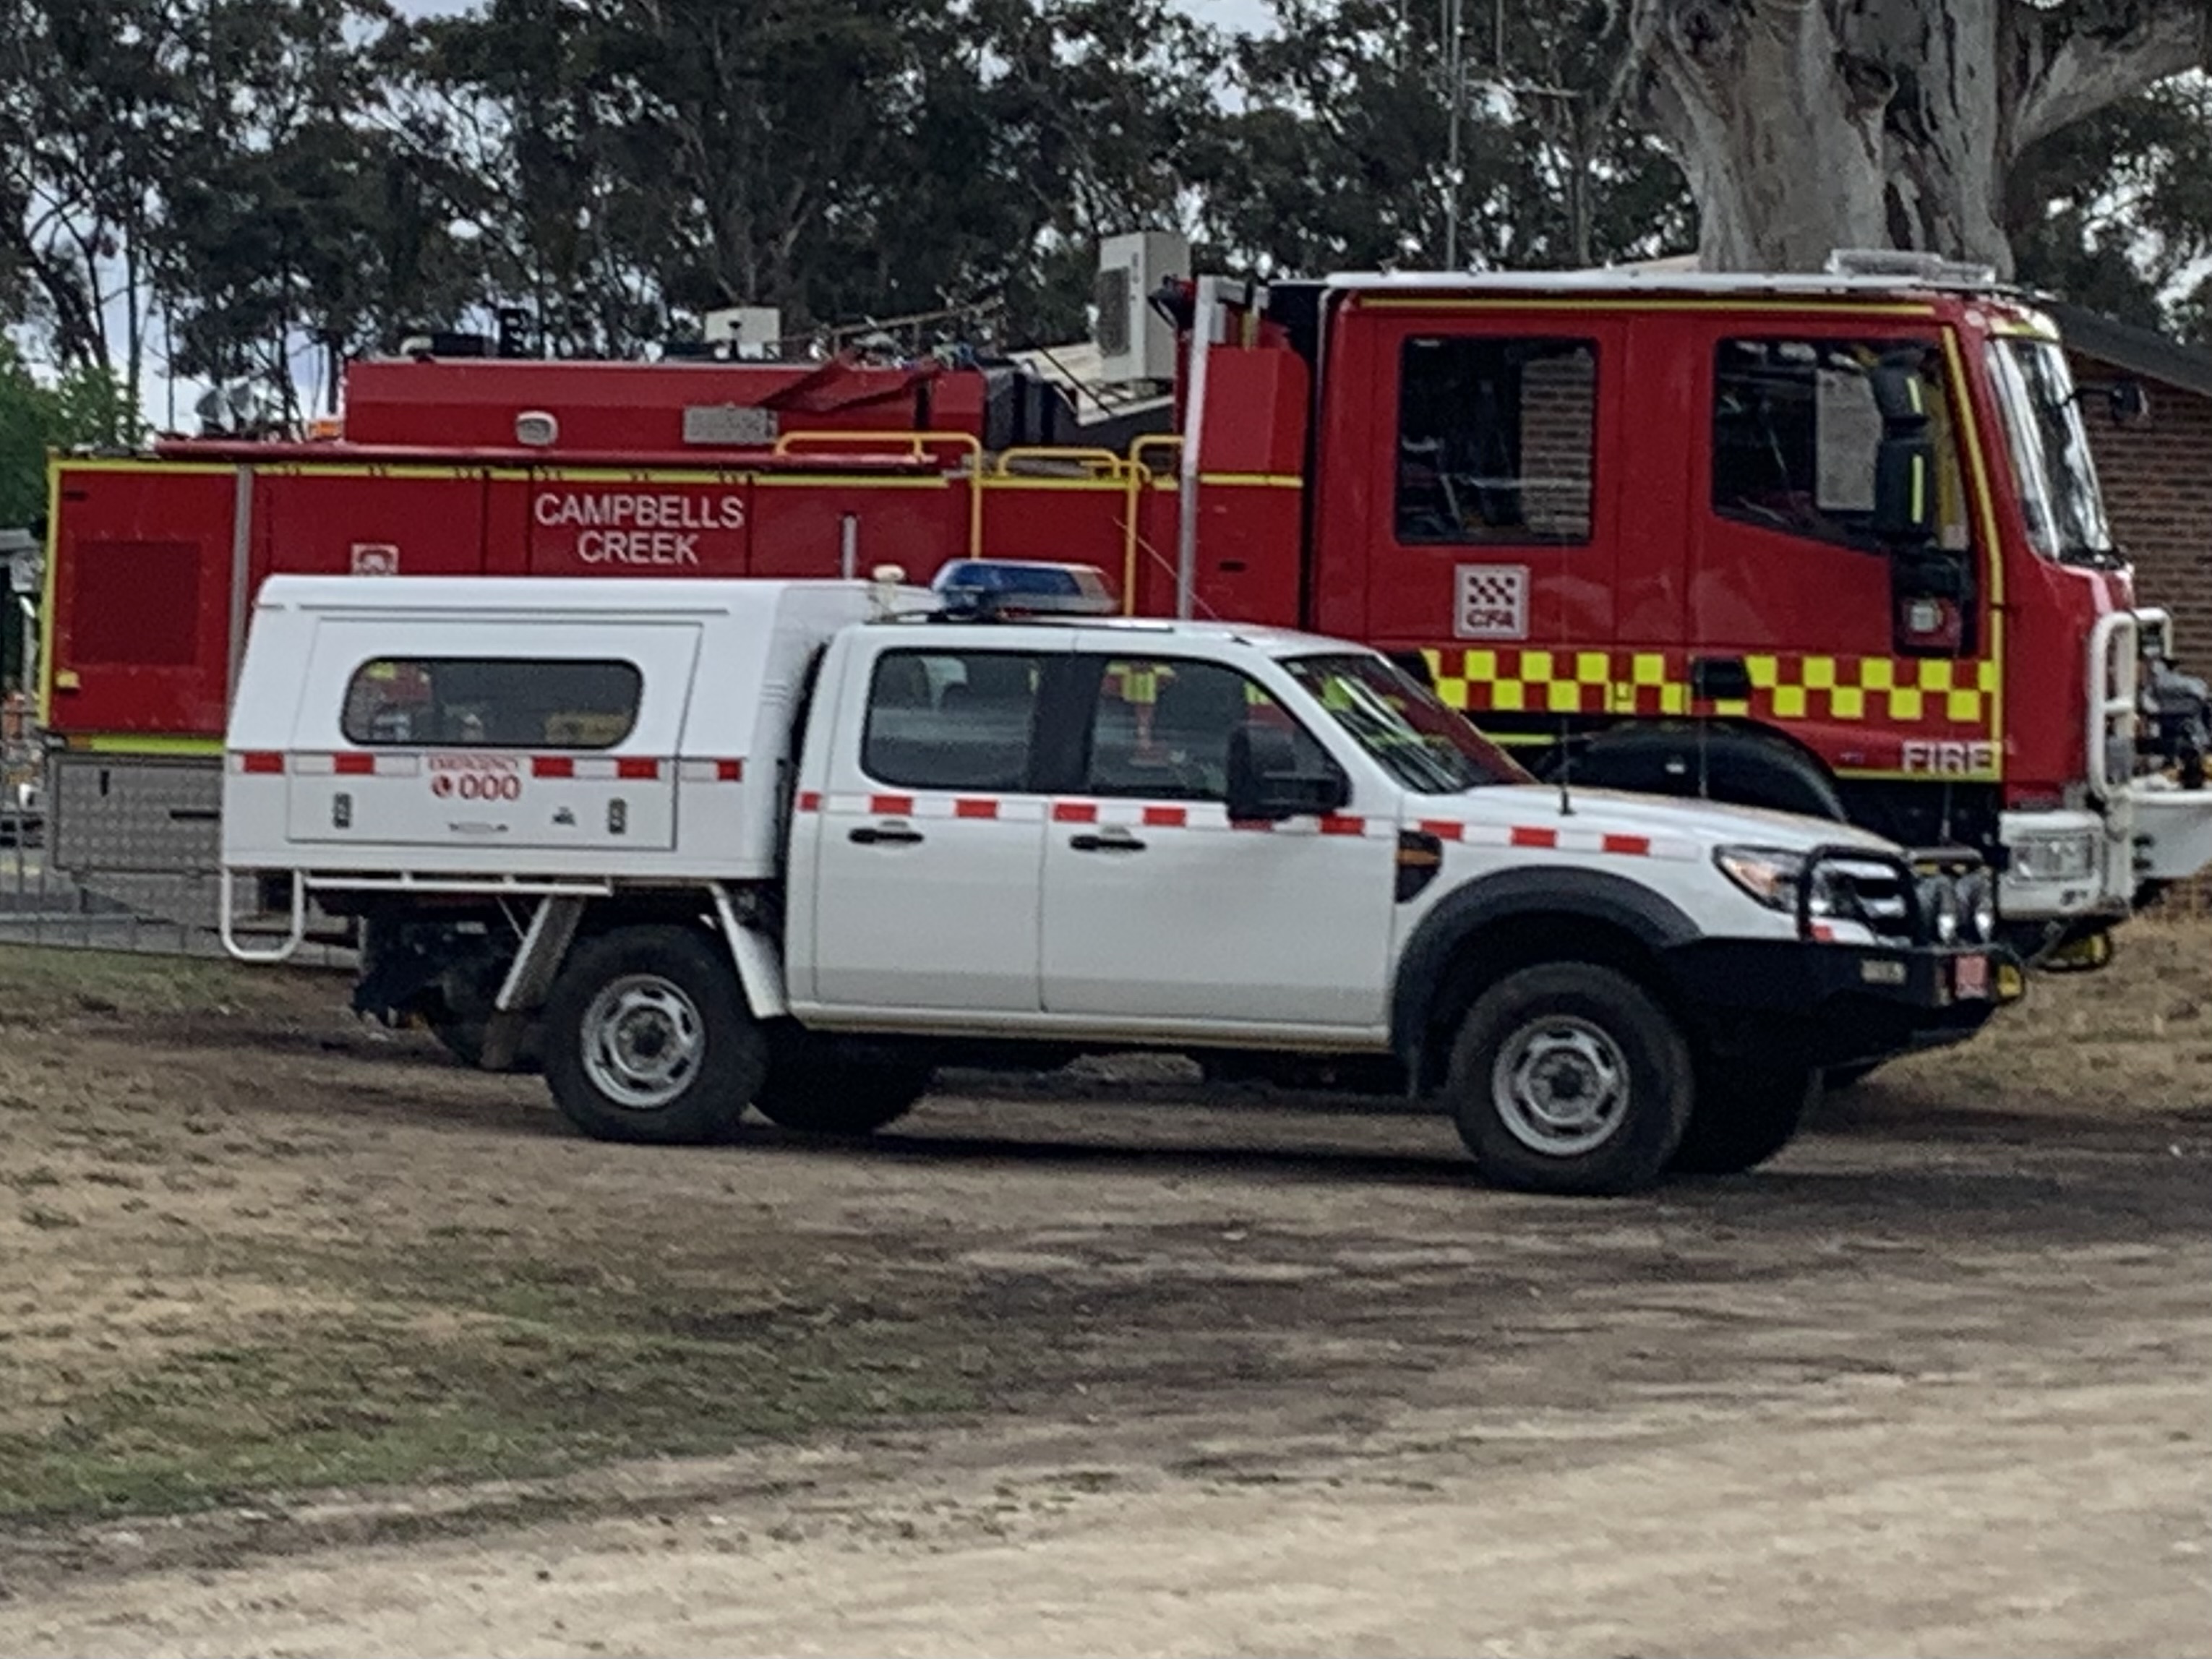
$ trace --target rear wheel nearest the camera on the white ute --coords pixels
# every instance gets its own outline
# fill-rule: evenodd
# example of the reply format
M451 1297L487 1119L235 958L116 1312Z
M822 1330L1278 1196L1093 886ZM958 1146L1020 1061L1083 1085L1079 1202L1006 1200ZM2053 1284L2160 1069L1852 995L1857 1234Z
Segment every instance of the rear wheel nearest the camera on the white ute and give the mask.
M688 927L580 945L544 1031L553 1102L602 1141L723 1139L768 1071L768 1037L728 956Z

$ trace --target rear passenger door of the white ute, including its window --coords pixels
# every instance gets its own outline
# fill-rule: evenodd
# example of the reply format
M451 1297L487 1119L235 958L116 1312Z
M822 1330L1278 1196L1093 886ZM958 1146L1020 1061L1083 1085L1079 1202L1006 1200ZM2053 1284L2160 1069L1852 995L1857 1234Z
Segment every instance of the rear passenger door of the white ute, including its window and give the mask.
M1026 639L854 657L827 787L799 799L821 1004L1037 1011L1037 726L1066 639Z

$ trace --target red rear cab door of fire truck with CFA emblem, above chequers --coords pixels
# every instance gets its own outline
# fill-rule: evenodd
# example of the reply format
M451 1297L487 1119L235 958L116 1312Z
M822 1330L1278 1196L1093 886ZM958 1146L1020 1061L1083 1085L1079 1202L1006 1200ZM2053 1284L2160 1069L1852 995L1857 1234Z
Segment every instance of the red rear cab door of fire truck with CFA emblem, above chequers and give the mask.
M1380 314L1369 338L1369 465L1387 482L1369 491L1360 535L1365 637L1610 646L1621 469L1599 458L1624 453L1626 327L1582 312L1420 310ZM1542 679L1526 668L1522 679Z

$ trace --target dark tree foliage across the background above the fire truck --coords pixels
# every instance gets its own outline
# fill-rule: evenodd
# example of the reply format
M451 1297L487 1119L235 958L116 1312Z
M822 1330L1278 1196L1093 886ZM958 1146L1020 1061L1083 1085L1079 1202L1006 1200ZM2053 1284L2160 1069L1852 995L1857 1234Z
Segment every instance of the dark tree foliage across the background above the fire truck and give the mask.
M1267 4L1225 35L1188 0L18 0L0 323L122 407L186 374L290 411L301 378L438 325L628 354L759 303L801 334L949 312L982 343L1064 341L1097 239L1139 226L1256 274L1697 243L1650 97L1661 53L1697 49L1674 0L1464 0L1458 168L1444 7ZM1898 0L1944 4L2028 0ZM2104 40L2077 11L2011 24L2075 75L2044 84L2081 84ZM2212 95L2046 124L2002 201L2022 272L2197 327L2212 307L2166 301L2212 252ZM49 394L9 376L9 431L46 434L22 411Z

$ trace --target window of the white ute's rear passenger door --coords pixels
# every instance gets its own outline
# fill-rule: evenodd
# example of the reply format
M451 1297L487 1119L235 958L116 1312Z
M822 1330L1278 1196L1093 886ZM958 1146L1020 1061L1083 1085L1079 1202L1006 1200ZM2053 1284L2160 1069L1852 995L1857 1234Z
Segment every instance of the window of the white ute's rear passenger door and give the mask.
M1022 790L1044 659L887 650L867 686L860 770L909 790Z

